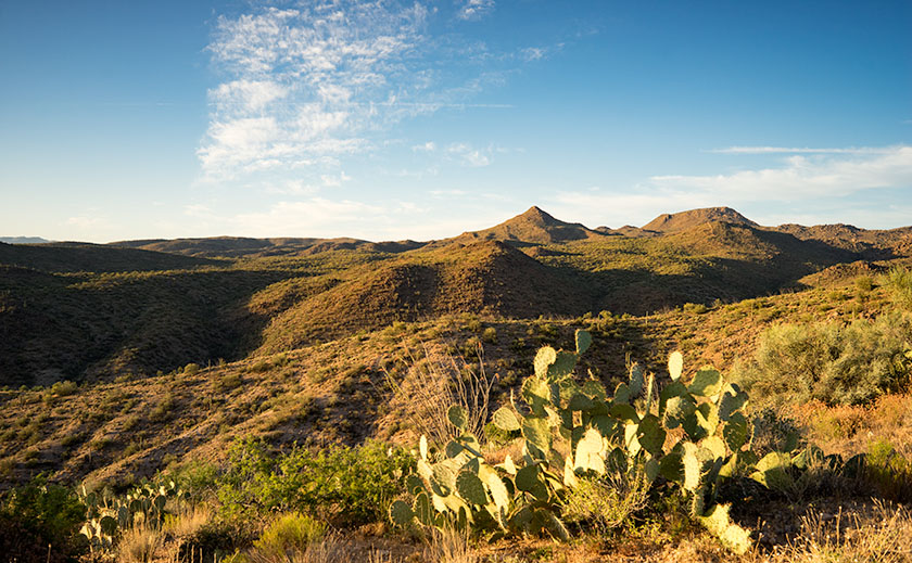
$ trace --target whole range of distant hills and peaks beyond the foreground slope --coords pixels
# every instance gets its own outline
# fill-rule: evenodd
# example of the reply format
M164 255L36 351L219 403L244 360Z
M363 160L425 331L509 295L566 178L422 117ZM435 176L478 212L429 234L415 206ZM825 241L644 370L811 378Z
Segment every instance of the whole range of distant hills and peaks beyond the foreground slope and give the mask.
M0 243L0 385L149 374L395 321L643 316L912 261L912 227L762 227L727 207L590 229L531 207L451 239Z

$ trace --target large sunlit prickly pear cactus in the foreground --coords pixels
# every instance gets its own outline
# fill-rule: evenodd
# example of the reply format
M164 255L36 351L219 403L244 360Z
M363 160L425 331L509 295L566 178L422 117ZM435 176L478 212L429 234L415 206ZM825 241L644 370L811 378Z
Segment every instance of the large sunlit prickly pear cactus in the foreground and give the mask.
M522 385L524 405L494 412L494 425L519 434L521 459L489 464L478 438L465 432L467 412L451 407L449 421L463 434L440 451L429 451L421 437L417 472L407 479L411 502L393 502L392 522L567 539L561 499L580 479L636 469L648 486L663 479L679 488L695 519L731 550L747 551L750 534L729 519L729 506L717 502L719 484L735 474L761 483L776 478L793 459L773 452L760 460L751 452L752 427L743 412L747 395L712 368L685 384L682 356L673 353L661 392L655 375L634 364L629 381L608 396L601 383L572 376L591 343L587 332L578 331L574 353L541 348L535 374Z

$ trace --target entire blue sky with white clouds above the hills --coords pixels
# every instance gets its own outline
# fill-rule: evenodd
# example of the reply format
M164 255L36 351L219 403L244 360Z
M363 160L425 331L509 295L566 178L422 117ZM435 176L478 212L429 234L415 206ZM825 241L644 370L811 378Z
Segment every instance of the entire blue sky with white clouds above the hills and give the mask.
M912 2L0 0L0 235L912 225Z

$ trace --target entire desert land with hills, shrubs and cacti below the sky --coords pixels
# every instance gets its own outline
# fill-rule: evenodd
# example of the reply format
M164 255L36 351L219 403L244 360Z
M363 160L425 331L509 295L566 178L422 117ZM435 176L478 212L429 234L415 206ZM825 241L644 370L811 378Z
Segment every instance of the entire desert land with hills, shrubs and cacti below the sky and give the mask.
M0 552L910 560L901 233L692 218L3 248Z

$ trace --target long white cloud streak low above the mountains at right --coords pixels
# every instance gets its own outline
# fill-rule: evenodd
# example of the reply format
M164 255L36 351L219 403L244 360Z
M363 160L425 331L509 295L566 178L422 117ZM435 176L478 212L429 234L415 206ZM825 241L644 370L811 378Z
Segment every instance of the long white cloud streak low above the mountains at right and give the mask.
M770 206L788 208L791 204L820 202L858 196L867 190L908 190L912 192L912 146L871 148L816 153L810 156L794 155L778 167L746 169L732 174L711 176L667 175L623 191L588 189L559 192L550 204L558 216L573 217L591 227L608 225L642 226L660 213L697 207L727 205L765 209ZM863 225L905 225L909 222L908 205L900 204L886 216L873 216L859 209L847 213L845 204L832 213L819 209L816 214L796 216L788 214L758 214L753 218L763 225L826 220L857 220ZM865 215L866 214L866 215ZM849 217L851 216L851 217ZM854 218L852 218L854 217ZM827 219L828 218L828 219ZM867 222L864 222L867 221Z

